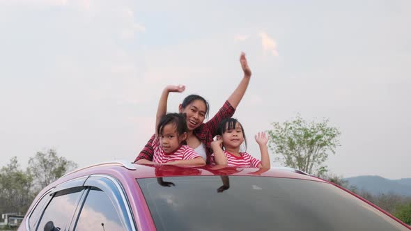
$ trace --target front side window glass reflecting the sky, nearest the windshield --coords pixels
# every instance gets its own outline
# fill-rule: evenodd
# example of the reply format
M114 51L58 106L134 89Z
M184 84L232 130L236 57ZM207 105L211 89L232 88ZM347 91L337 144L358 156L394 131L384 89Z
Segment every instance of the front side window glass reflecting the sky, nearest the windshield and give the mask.
M125 230L116 207L106 193L92 188L80 212L75 230Z

